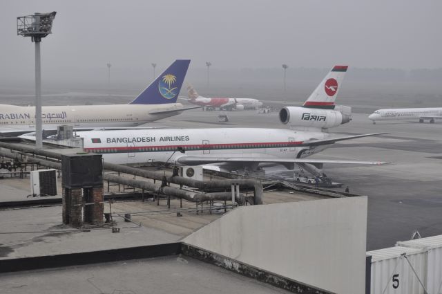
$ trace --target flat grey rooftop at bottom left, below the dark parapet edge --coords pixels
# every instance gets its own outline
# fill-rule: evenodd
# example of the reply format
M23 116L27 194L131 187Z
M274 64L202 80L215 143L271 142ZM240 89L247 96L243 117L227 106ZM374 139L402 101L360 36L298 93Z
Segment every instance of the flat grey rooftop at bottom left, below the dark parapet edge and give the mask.
M0 293L289 293L180 255L0 274Z

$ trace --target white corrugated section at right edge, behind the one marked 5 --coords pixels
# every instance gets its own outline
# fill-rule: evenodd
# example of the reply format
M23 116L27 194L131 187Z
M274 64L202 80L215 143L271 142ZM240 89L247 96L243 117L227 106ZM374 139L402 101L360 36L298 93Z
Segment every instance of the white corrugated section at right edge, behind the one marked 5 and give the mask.
M397 242L396 245L425 251L425 288L429 294L442 293L442 235Z

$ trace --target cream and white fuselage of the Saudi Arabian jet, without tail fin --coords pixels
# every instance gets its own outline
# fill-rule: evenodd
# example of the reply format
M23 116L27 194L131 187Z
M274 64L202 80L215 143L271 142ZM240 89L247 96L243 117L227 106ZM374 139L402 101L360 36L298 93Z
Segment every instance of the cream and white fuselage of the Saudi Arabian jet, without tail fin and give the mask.
M57 125L82 127L136 127L146 122L175 116L180 112L156 113L182 109L180 103L113 104L41 107L43 128ZM0 104L0 129L35 129L35 107Z

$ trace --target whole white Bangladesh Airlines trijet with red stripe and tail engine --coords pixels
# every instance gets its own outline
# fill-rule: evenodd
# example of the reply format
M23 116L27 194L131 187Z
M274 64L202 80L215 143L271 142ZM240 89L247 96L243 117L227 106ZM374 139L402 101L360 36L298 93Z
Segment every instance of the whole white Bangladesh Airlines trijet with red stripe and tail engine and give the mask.
M77 131L84 138L85 151L103 154L111 163L159 161L180 165L217 164L223 170L277 163L293 168L294 163L320 174L315 166L323 163L382 164L359 160L314 160L316 154L340 140L379 134L337 137L329 127L349 121L334 110L334 101L347 66L335 66L312 93L305 107L285 107L280 120L292 129L140 129L122 131ZM326 109L316 109L322 107ZM26 137L23 137L26 138ZM313 171L311 171L313 169Z

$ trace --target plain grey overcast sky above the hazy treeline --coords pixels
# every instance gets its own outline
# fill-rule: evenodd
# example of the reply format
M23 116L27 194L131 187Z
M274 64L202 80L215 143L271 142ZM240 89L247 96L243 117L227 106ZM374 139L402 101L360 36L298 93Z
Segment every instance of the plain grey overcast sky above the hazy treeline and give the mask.
M16 17L51 11L46 69L178 58L217 68L442 67L441 0L1 0L0 11L0 77L34 70Z

